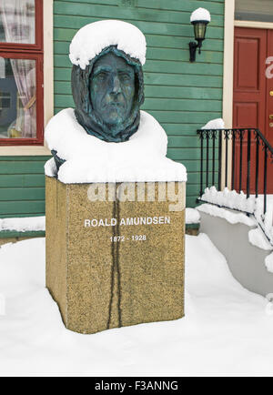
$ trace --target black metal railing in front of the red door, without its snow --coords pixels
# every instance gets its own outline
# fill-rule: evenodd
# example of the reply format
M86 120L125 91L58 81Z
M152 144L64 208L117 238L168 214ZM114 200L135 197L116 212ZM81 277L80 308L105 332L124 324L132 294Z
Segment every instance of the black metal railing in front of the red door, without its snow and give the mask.
M231 156L231 189L263 195L264 214L268 205L268 167L273 166L273 148L255 128L200 129L200 196L205 187L228 187L228 162ZM230 152L231 150L231 152ZM225 165L222 157L225 155ZM273 167L269 187L273 188ZM262 179L261 179L262 177ZM271 191L272 193L272 191Z

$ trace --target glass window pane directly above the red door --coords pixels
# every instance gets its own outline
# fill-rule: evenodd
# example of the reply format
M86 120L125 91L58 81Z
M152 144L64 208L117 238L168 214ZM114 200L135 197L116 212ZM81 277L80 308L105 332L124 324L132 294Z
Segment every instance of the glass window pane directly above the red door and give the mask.
M238 21L273 22L273 1L236 0L235 19Z

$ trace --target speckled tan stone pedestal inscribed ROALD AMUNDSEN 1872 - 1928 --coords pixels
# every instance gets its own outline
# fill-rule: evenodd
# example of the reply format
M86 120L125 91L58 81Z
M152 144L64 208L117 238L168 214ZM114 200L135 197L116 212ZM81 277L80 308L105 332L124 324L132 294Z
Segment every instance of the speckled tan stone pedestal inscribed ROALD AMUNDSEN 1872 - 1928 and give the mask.
M90 201L94 185L46 177L46 287L67 329L87 334L184 316L185 183L171 183L180 205L169 190L158 201L163 184L155 184L155 201L150 191L138 194L145 201L109 201L117 184L103 185L106 201ZM127 186L134 200L137 184Z

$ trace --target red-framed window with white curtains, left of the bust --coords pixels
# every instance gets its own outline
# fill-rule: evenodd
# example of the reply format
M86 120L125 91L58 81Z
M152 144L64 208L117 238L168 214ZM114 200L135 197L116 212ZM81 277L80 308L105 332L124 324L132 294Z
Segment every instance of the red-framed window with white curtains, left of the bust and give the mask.
M43 0L0 0L0 146L44 144Z

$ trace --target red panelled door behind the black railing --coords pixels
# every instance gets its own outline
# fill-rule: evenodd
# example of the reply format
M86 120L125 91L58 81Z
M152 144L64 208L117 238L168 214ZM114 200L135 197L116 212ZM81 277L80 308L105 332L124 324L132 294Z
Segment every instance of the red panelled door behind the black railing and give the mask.
M267 77L267 59L273 56L273 31L235 29L233 127L258 128L273 146L273 78ZM273 70L272 70L273 77ZM273 93L272 93L273 95ZM272 115L272 121L270 117ZM259 193L263 193L263 151L259 151ZM255 193L256 144L252 139L250 193ZM242 190L247 185L247 136L243 143ZM239 189L239 144L236 146L235 188ZM268 193L273 193L273 166L268 160Z

